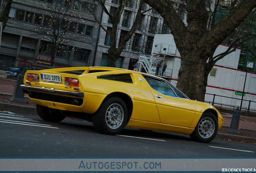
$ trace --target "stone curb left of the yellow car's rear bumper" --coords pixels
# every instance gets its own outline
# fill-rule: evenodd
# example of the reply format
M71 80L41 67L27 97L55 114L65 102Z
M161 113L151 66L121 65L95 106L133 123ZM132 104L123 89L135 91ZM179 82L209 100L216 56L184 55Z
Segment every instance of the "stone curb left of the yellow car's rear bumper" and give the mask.
M14 105L9 103L0 103L0 110L37 115L37 110L35 107Z

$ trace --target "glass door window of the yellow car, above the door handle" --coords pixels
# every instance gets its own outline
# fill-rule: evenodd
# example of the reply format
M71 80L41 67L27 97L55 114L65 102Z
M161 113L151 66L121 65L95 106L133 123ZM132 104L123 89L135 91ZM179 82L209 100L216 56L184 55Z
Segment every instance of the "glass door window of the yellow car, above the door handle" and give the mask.
M144 78L147 80L151 88L153 88L155 91L170 97L177 97L177 95L175 95L171 87L165 81L151 78L148 76L144 76Z

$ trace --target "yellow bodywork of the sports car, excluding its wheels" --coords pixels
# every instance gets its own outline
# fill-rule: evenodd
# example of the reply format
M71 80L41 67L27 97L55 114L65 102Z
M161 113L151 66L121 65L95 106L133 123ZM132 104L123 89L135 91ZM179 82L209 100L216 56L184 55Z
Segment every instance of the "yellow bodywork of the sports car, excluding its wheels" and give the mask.
M202 115L207 112L216 117L215 128L221 128L224 120L215 107L190 100L180 91L173 89L173 86L170 91L180 92L176 93L177 97L165 95L165 92L169 91L161 89L157 82L166 83L167 86L164 87L171 85L157 76L132 70L68 67L28 70L22 87L29 99L42 106L39 108L85 113L92 117L100 111L106 98L119 97L124 101L127 110L127 122L124 122L126 127L191 135ZM159 87L160 92L154 87ZM202 123L205 127L206 124L209 125L208 121Z

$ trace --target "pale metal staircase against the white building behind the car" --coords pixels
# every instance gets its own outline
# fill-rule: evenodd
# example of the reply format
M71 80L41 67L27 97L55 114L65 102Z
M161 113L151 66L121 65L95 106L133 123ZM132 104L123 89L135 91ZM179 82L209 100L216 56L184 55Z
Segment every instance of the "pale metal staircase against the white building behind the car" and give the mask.
M157 69L157 64L163 61L163 57L157 54L151 54L151 56L146 56L145 54L140 54L138 63L142 64L145 71L148 74L155 74Z

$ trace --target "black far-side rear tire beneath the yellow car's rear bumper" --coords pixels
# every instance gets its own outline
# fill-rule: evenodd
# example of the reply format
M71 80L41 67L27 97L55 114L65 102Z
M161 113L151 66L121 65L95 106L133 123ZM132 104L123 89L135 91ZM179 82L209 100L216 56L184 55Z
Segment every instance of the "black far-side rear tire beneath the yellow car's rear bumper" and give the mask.
M37 114L45 121L58 123L66 118L66 115L62 115L59 110L51 109L41 105L36 105Z

